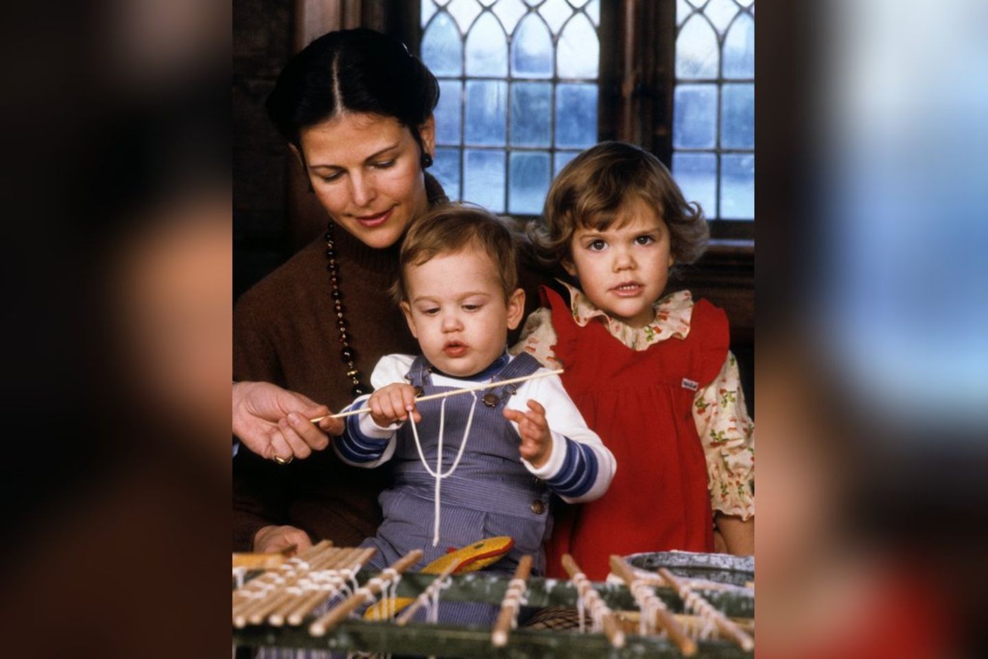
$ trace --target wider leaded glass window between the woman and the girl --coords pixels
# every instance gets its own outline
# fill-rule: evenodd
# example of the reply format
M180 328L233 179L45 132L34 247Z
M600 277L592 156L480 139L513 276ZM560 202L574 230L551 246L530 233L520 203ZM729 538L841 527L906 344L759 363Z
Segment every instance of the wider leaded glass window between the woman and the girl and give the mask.
M598 141L600 0L422 0L422 60L442 89L436 164L450 199L538 214L552 177Z

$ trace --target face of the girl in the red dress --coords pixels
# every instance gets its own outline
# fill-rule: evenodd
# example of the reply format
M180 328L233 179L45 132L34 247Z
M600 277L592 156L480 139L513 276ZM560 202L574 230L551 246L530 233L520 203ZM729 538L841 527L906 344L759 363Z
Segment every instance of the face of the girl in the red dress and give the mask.
M674 263L669 227L640 199L629 200L606 231L580 227L569 244L566 272L591 302L631 327L652 322L652 303Z

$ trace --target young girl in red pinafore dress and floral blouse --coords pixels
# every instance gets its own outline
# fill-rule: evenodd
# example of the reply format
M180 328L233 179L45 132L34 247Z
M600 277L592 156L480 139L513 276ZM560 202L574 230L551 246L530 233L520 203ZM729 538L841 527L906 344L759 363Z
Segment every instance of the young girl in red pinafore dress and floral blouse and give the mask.
M611 554L713 551L714 524L716 548L754 552L754 425L727 318L688 290L665 293L706 237L662 163L618 142L567 164L530 227L536 255L575 286L541 289L512 352L566 370L566 390L621 465L604 497L557 516L549 576L563 576L566 552L603 579Z

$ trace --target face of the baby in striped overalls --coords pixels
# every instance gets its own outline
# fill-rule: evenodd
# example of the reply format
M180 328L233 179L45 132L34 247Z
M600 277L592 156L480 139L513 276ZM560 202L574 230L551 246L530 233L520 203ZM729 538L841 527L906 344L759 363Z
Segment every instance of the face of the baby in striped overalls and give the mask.
M405 269L408 326L433 366L450 375L483 371L504 352L521 322L525 292L505 302L494 261L470 245Z

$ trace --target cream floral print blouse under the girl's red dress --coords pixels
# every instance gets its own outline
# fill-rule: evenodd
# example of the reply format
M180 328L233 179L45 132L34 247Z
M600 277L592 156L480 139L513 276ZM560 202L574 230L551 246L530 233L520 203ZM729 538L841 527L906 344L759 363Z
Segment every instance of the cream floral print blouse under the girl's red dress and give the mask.
M655 319L639 329L610 317L579 288L565 286L570 292L573 319L580 327L597 319L632 350L644 351L660 341L682 340L690 333L693 295L689 290L670 293L655 302ZM551 350L555 344L552 313L540 308L526 320L522 338L509 352L518 355L526 351L543 366L558 369L559 362ZM697 392L693 419L706 455L711 507L748 520L755 515L755 423L748 416L737 360L730 351L713 381Z

